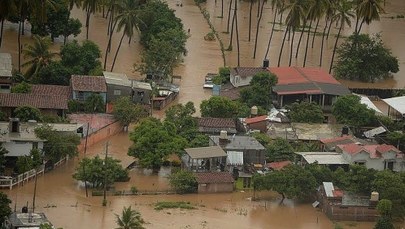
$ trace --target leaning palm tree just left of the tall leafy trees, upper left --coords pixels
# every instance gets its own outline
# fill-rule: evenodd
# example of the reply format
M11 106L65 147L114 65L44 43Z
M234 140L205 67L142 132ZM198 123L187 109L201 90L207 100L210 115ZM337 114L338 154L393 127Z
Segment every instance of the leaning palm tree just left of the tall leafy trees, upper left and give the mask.
M121 31L122 36L120 43L118 44L117 52L115 53L113 64L111 66L111 71L114 70L115 61L117 60L118 52L120 51L122 40L124 36L131 38L134 35L134 29L139 30L138 25L141 22L138 18L139 13L139 1L138 0L124 0L123 10L117 15L116 20L118 21L117 32Z

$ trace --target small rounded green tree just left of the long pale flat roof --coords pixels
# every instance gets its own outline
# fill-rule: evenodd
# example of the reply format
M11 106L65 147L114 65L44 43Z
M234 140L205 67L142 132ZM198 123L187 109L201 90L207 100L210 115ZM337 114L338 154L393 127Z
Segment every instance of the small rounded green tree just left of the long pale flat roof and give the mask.
M293 160L294 149L288 140L276 138L266 146L266 157L269 161Z

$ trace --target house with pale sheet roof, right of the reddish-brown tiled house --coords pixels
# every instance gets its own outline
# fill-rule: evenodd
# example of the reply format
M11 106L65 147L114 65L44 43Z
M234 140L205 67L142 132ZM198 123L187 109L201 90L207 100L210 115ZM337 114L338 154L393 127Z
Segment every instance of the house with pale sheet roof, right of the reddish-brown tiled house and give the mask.
M132 98L132 83L126 74L115 72L103 72L107 85L107 103L114 102L121 96Z

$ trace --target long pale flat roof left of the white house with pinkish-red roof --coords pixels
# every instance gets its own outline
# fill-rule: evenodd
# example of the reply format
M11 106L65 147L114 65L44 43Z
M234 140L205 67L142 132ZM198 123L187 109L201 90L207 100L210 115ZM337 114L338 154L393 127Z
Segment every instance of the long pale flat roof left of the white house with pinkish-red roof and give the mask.
M320 165L348 165L343 155L335 152L295 152L301 155L309 164L318 163Z

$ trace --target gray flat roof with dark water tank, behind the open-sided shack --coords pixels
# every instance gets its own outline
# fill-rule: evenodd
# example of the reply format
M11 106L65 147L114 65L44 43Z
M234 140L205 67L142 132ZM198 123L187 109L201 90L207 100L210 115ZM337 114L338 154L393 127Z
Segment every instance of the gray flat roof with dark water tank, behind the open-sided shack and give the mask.
M264 150L264 146L250 136L228 136L224 143L219 142L219 136L210 136L210 139L225 150Z

